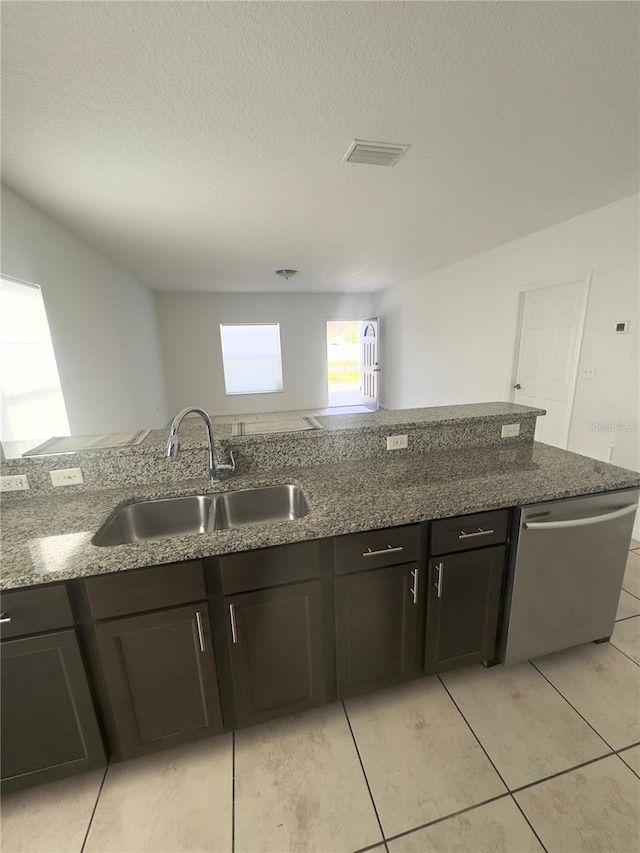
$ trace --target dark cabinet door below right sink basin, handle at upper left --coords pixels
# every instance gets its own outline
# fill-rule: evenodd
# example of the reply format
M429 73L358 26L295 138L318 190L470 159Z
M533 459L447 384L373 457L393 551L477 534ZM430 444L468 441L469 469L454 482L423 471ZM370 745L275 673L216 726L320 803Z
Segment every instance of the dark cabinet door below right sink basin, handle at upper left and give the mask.
M225 598L238 727L325 701L320 581Z

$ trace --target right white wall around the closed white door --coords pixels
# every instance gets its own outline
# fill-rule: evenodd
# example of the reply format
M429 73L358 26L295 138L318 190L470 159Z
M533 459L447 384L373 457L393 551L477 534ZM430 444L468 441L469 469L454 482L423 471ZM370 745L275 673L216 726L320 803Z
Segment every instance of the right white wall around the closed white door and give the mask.
M510 400L519 292L593 271L569 449L637 470L639 197L530 234L377 295L388 408ZM631 320L627 335L616 321Z

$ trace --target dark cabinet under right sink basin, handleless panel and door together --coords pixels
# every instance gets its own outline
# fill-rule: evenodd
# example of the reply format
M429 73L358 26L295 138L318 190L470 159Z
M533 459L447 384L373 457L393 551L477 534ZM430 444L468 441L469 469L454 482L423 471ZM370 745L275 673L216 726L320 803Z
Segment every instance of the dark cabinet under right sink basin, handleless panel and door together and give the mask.
M330 702L331 543L296 542L213 560L207 572L224 719L231 728ZM331 638L332 639L332 638Z

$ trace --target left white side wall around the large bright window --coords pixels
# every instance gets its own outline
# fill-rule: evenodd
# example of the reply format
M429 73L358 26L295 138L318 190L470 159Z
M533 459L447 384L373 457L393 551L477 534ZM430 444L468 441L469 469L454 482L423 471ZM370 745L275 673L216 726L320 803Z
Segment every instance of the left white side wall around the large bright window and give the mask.
M5 187L2 273L42 288L73 434L167 422L151 291Z

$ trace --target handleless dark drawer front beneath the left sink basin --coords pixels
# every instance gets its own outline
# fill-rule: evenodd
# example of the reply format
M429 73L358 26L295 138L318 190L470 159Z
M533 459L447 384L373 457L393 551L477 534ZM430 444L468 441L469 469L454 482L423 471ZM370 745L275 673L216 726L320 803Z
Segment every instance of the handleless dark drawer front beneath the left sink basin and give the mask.
M84 581L84 588L94 619L177 607L206 598L201 560L90 578Z

